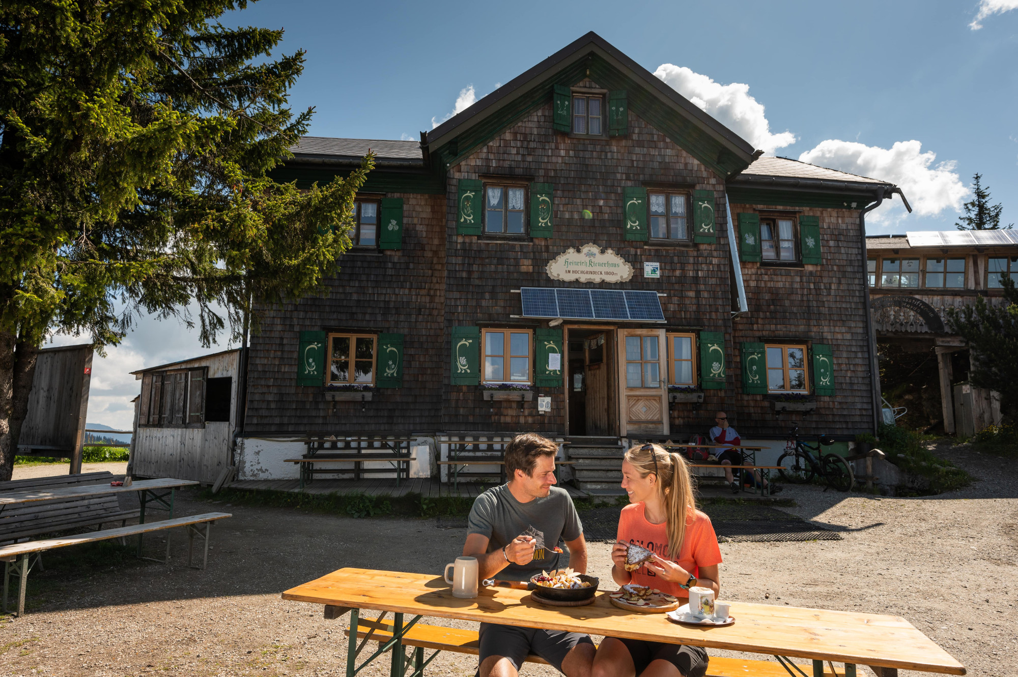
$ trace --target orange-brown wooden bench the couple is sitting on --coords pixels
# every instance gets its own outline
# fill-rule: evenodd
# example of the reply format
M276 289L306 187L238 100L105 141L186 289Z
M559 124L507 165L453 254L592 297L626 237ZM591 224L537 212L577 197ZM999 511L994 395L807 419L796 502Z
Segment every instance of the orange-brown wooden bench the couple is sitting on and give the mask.
M331 611L330 611L331 610ZM342 615L340 607L326 607L326 618L339 618ZM337 613L340 612L340 613ZM357 637L370 638L372 641L385 642L392 639L393 624L384 620L385 613L376 619L361 618L357 621ZM349 628L343 630L346 636L350 636ZM363 645L361 641L361 647ZM433 649L436 652L453 652L455 654L470 654L477 656L479 653L479 642L476 630L467 630L458 627L442 627L438 625L422 625L420 623L411 627L403 635L402 643L407 647L417 648L419 654L415 662L416 670L420 674L414 673L415 677L421 677L423 666L430 663L435 655L429 657L428 662L423 659L423 650ZM358 647L359 651L359 647ZM527 663L548 662L540 656L530 655L526 657ZM798 666L807 675L814 675L812 666ZM843 675L844 673L842 673ZM748 661L745 659L731 659L712 656L708 665L706 677L789 677L788 671L780 663L772 661ZM824 677L838 677L836 672L824 669Z

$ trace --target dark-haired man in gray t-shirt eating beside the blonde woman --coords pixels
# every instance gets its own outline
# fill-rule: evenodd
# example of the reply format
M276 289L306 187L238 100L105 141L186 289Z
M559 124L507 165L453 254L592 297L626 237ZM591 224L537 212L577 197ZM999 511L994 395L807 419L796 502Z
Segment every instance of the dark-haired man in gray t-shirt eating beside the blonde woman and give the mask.
M557 451L555 442L533 433L506 445L509 481L477 496L467 520L463 555L477 558L479 580L528 580L566 566L586 573L583 526L569 493L553 486ZM559 544L568 550L556 553ZM480 624L480 677L516 677L530 654L566 677L589 677L595 648L589 635L578 632Z

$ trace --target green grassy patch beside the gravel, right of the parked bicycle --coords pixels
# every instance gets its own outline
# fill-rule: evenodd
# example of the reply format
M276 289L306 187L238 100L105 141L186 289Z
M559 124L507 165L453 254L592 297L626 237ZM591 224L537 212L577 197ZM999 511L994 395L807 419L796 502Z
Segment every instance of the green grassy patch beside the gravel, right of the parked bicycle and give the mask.
M898 488L899 496L935 496L972 483L971 475L926 448L926 442L936 439L935 436L886 423L881 424L878 432L880 449L908 479L909 486ZM860 435L857 441L876 445L869 435Z

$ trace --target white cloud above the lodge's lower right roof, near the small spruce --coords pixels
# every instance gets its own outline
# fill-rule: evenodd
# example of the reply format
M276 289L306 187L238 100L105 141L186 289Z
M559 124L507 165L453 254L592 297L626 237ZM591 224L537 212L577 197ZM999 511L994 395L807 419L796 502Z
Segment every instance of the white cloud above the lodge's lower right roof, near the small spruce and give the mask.
M922 152L919 141L897 141L890 148L855 141L828 139L806 150L799 160L821 167L895 183L901 187L916 216L932 217L946 209L960 211L969 189L955 172L956 163L934 164L937 153ZM891 225L901 219L903 207L894 200L873 210L874 223Z

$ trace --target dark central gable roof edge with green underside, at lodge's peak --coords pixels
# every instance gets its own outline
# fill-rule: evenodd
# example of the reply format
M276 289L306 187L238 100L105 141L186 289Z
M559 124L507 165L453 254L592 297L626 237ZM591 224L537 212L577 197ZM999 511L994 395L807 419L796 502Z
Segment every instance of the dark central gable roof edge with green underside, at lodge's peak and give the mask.
M722 176L745 169L755 157L738 134L593 32L428 132L431 153L456 162L548 101L553 84L571 85L587 75L601 86L625 89L630 111Z

